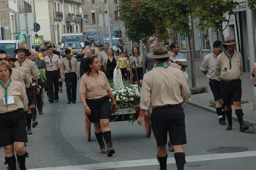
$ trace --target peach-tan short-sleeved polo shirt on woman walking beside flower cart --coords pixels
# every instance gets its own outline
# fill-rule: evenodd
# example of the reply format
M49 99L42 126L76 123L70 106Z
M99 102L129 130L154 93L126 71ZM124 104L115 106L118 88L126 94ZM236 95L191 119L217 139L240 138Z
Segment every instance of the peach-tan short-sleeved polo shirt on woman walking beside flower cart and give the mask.
M99 71L96 78L86 73L83 75L80 83L79 93L85 93L85 97L88 99L98 99L106 96L107 91L110 90L110 86L106 75Z

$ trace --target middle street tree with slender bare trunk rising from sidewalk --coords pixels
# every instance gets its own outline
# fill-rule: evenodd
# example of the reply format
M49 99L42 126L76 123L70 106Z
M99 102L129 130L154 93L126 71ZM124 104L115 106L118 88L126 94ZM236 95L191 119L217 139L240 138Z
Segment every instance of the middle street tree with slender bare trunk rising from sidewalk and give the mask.
M157 30L157 38L171 37L169 28L176 33L188 37L191 67L191 85L196 87L194 52L191 44L193 30L190 26L191 13L197 2L194 0L133 0L132 9L136 14L146 15L150 22L154 23ZM193 41L192 41L193 42Z

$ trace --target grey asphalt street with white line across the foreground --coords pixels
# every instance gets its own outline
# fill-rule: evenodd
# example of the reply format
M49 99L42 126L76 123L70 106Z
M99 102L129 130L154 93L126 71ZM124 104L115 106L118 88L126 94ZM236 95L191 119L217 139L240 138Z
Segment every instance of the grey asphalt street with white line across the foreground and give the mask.
M94 135L91 141L85 133L83 105L77 86L76 104L67 104L65 83L59 93L59 103L44 99L43 115L37 115L38 125L28 135L27 169L159 169L156 141L153 133L146 136L145 126L135 121L110 122L112 157L100 154ZM44 92L46 96L46 92ZM216 114L188 105L184 108L187 144L183 145L187 164L185 169L256 169L256 135L239 132L238 123L226 130L216 121ZM221 153L211 149L227 147ZM228 147L242 147L242 152ZM229 153L234 152L234 153ZM0 169L7 169L4 150L0 149ZM176 169L173 152L168 152L167 169Z

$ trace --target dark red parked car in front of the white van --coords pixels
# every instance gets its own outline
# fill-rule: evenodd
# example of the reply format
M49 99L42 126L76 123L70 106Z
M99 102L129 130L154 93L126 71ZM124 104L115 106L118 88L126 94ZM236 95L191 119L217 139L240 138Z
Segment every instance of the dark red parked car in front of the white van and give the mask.
M81 60L82 59L82 46L79 42L68 42L71 43L71 47L72 47L72 53L73 53L73 57L75 57L77 60ZM61 56L67 57L67 55L65 54L65 50L69 47L68 43L64 43L63 48L61 48L60 53Z

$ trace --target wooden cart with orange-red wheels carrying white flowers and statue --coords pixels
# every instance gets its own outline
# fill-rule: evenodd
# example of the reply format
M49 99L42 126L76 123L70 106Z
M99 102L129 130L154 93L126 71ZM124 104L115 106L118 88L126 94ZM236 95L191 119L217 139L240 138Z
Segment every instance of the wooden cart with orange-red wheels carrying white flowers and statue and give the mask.
M125 108L122 108L125 109ZM110 117L109 122L113 121L129 121L129 120L137 120L138 117L140 117L140 105L134 105L133 111L136 111L135 113L128 113L128 114L112 114ZM130 118L130 115L133 114L133 118ZM151 109L149 108L148 111L145 113L145 128L146 128L146 135L150 137L152 127L151 127ZM87 141L91 140L91 121L88 119L87 115L85 114L85 129L86 129L86 136L87 136Z

